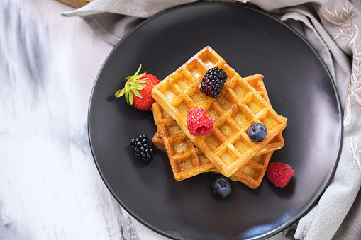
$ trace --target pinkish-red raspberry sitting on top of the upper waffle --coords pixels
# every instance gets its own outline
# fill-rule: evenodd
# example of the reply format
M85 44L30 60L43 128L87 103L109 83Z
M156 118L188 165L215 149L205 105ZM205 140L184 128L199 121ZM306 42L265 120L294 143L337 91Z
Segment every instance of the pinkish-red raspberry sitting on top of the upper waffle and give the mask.
M213 128L213 119L206 110L194 107L188 112L187 127L191 135L208 135Z

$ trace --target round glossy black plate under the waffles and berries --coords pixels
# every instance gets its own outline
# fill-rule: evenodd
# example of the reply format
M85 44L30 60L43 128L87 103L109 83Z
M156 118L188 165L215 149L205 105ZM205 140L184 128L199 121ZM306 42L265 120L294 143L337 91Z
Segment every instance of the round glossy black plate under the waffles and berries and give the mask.
M130 139L156 132L152 113L113 94L140 63L163 79L206 45L241 76L265 76L272 106L288 118L286 144L271 159L293 166L286 188L267 177L257 190L233 182L231 196L219 200L210 192L211 173L178 182L161 151L147 165L132 156ZM145 226L175 239L256 239L294 223L321 196L338 162L341 117L328 70L294 30L237 4L190 4L145 21L116 45L94 85L89 137L109 190Z

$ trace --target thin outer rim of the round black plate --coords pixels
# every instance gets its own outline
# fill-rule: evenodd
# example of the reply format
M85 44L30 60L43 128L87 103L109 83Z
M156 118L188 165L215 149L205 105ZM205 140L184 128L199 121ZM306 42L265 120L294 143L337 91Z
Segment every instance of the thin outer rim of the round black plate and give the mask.
M340 103L340 96L338 93L338 89L336 88L336 84L335 84L335 79L333 79L333 76L330 72L330 70L328 69L326 63L323 61L323 59L321 58L321 56L318 54L318 52L316 52L315 48L309 43L308 40L306 40L306 38L304 38L303 35L301 35L300 33L298 33L294 28L292 28L290 25L288 25L287 23L284 23L283 21L279 20L279 18L276 18L275 16L272 16L271 13L267 13L266 11L263 11L261 8L259 8L258 6L255 6L252 4L252 6L250 6L249 4L240 4L240 3L231 3L231 2L223 2L223 1L203 1L203 2L193 2L193 3L187 3L187 4L180 4L178 6L173 6L171 8L167 8L164 11L160 11L159 13L156 13L154 16L151 16L150 18L145 19L143 22L141 22L140 24L136 25L134 28L132 28L131 30L128 31L128 33L126 33L126 35L123 36L123 38L121 38L121 40L119 40L117 42L116 45L114 45L113 49L111 50L111 52L109 52L109 55L107 55L106 59L104 59L103 64L101 64L101 67L99 69L98 74L96 75L96 79L94 81L93 87L91 88L91 94L90 94L90 98L89 98L89 104L88 104L88 115L87 115L87 132L88 132L88 140L89 140L89 146L91 149L91 155L93 156L93 160L94 163L96 165L97 170L99 171L99 175L101 176L102 181L104 181L106 188L108 188L109 192L111 193L111 195L113 196L113 198L116 199L116 201L118 202L119 205L121 205L121 207L126 210L126 212L128 212L128 214L133 217L134 219L136 219L138 222L140 222L141 224L143 224L143 226L147 227L148 229L152 230L153 232L156 232L157 234L160 234L162 236L165 236L167 238L170 239L184 239L182 236L181 238L177 238L173 235L167 234L167 231L162 231L160 229L158 229L157 227L155 227L154 225L152 225L150 222L145 222L145 220L141 219L140 217L138 217L132 210L130 210L123 202L120 198L118 198L118 196L116 195L116 193L114 193L113 189L111 188L111 185L109 184L108 181L106 181L106 178L104 176L103 171L101 170L98 160L95 156L95 152L94 152L94 147L93 147L93 143L91 141L91 129L90 129L90 116L91 116L91 103L93 100L93 96L94 96L94 91L96 89L97 84L99 83L99 76L101 75L102 70L104 69L105 64L108 62L109 58L111 57L111 55L113 55L113 52L116 50L116 48L118 47L118 45L121 45L121 43L123 42L123 40L126 40L126 38L128 38L129 35L131 35L135 30L138 30L138 28L141 28L143 25L145 25L146 23L148 23L149 21L152 21L154 18L157 18L159 16L162 16L165 13L169 13L171 11L177 11L177 9L179 8L187 8L189 6L196 6L196 5L229 5L229 6L234 6L234 7L240 7L240 8L246 8L250 11L255 11L257 13L261 13L264 16L267 16L269 18L272 18L274 21L277 21L278 23L282 24L284 27L288 28L289 30L291 30L292 33L294 33L295 35L297 35L308 47L310 50L312 50L313 54L318 58L319 62L323 65L323 68L326 70L326 73L329 76L329 79L331 80L331 85L333 88L333 91L335 93L335 99L337 102L337 108L338 108L338 118L339 118L339 122L340 122L340 132L338 132L338 134L340 135L340 138L338 139L338 155L336 156L335 159L335 165L333 166L333 170L330 173L330 178L328 178L328 181L326 182L324 188L320 191L319 196L314 200L314 202L310 205L310 207L302 212L301 214L297 215L296 217L294 217L294 220L284 224L284 226L279 227L276 229L276 231L274 232L269 232L263 236L260 236L260 238L257 239L264 239L264 238L269 238L271 236L274 236L276 234L279 234L280 232L284 231L284 229L287 229L288 227L290 227L292 224L294 224L295 222L299 221L299 219L301 219L302 217L304 217L315 205L317 205L318 201L320 200L320 198L322 197L323 193L326 191L326 189L328 188L328 186L330 185L331 181L333 180L333 176L335 175L335 171L336 168L338 166L339 160L340 160L340 154L342 152L342 146L343 146L343 110L342 110L342 105Z

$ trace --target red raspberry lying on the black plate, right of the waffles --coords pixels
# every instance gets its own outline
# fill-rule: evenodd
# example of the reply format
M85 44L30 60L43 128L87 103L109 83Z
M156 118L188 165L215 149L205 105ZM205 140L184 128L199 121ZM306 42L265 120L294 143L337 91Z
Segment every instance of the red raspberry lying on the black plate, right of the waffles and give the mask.
M275 162L268 164L267 178L277 187L284 188L294 176L294 170L288 164Z

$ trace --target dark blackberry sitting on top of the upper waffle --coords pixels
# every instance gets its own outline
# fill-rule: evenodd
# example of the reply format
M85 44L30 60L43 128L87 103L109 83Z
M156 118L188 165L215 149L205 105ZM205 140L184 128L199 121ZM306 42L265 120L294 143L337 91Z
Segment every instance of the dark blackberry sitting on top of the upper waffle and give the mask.
M206 96L216 98L223 88L226 82L227 74L223 69L213 67L213 69L207 70L201 83L201 92Z

